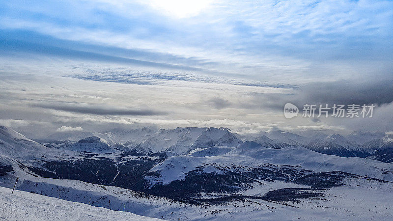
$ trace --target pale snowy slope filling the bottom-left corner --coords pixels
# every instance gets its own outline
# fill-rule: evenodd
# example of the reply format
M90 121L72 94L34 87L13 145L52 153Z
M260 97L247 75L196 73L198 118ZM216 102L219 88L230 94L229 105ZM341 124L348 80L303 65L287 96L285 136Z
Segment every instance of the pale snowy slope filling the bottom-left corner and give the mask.
M0 220L159 220L25 191L11 192L0 187Z

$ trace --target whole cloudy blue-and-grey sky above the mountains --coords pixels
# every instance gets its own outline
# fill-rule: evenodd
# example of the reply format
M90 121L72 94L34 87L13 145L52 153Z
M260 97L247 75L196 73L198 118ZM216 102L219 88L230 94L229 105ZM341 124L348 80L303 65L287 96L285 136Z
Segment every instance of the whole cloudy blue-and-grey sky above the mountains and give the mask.
M392 0L0 2L0 124L393 130ZM286 103L375 104L286 119Z

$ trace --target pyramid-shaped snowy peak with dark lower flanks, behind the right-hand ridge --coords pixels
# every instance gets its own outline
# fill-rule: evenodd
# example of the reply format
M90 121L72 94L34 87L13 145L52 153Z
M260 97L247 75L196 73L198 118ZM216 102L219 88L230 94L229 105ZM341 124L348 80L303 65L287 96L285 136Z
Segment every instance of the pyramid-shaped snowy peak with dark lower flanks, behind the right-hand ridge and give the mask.
M349 141L339 134L333 134L324 139L314 139L306 146L310 150L340 157L368 157L375 151L364 148L359 144Z

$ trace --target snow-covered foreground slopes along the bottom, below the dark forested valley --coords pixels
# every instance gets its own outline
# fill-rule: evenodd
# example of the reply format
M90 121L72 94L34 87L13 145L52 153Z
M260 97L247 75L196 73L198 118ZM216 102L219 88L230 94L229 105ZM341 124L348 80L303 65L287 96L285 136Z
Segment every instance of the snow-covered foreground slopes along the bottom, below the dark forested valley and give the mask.
M21 181L16 196L11 189L0 188L0 218L15 220L138 220L146 217L165 220L389 220L393 216L393 184L375 180L346 180L343 186L318 190L311 198L279 202L258 198L228 200L213 205L192 205L130 190L84 183L75 180L34 178ZM303 194L302 185L290 185ZM281 192L286 182L270 182L247 191L255 196ZM42 194L42 195L41 195ZM27 195L28 197L26 197ZM48 196L52 197L48 197ZM60 199L58 196L60 195ZM13 198L15 197L15 198ZM65 200L62 200L65 199ZM111 200L111 211L108 200ZM67 201L66 201L67 200ZM74 201L79 203L72 203ZM87 205L87 204L91 204ZM104 208L102 208L104 207ZM4 210L5 208L5 210ZM129 212L121 212L121 211ZM71 211L72 215L67 213ZM93 217L89 217L89 215ZM47 217L44 217L47 216ZM53 216L53 217L50 217ZM132 216L135 216L132 217Z

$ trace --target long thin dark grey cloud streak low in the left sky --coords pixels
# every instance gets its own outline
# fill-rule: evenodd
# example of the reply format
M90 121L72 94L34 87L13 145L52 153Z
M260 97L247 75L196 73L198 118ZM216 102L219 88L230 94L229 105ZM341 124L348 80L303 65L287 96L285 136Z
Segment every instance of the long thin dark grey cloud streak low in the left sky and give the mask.
M88 113L97 115L130 115L130 116L152 116L166 115L162 111L153 110L131 110L128 108L116 108L108 105L89 105L77 103L61 103L61 104L30 104L31 107L52 109L56 111L67 111L74 113Z

